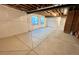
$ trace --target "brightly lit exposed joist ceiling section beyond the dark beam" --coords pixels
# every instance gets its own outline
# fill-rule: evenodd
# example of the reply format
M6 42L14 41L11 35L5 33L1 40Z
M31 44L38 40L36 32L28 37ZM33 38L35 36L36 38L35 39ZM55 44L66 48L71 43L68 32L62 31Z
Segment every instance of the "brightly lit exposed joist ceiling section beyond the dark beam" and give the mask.
M40 11L36 12L38 14L44 15L44 16L65 16L67 15L64 14L64 8L57 8L57 9L51 9L51 10L46 10L46 11Z

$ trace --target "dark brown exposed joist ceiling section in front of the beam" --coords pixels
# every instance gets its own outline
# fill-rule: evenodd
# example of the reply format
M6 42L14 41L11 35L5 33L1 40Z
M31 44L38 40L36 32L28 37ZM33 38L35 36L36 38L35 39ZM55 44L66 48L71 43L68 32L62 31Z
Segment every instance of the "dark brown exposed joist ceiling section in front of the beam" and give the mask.
M22 11L32 11L39 8L53 6L53 4L6 4L9 7L13 7Z

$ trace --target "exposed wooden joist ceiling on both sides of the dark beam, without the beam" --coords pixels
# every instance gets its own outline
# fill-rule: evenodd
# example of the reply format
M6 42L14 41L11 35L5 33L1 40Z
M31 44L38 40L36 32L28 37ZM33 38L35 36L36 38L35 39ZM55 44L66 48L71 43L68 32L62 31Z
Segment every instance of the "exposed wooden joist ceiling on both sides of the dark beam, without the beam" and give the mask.
M55 6L56 4L6 4L6 6L25 11L27 13L34 11L34 10L40 10L47 7ZM59 4L58 4L59 5ZM67 9L67 8L66 8ZM62 16L67 15L64 14L65 8L55 8L50 10L43 10L40 12L35 12L44 16Z

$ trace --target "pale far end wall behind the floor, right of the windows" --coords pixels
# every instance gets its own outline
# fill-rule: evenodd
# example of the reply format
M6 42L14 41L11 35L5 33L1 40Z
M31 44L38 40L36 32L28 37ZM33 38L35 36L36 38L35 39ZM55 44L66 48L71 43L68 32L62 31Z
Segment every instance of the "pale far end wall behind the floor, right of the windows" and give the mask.
M66 17L47 17L47 26L52 27L53 30L61 27L60 30L64 30Z

